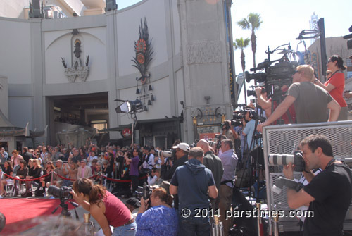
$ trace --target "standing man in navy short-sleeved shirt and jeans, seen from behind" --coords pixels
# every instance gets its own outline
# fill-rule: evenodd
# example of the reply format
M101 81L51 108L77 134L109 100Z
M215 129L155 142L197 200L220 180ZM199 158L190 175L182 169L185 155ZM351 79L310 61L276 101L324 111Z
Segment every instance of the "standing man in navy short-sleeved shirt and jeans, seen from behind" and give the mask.
M189 151L188 161L177 167L172 176L170 194L180 199L180 232L182 236L210 235L209 197L218 197L211 170L203 166L200 147Z

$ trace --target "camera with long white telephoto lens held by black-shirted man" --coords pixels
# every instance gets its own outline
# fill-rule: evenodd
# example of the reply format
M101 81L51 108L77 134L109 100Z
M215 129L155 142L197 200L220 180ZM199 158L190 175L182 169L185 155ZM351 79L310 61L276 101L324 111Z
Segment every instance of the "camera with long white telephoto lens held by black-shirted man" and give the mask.
M289 163L294 164L294 171L302 172L305 170L305 162L302 151L295 151L291 154L269 154L269 163L277 166L286 166Z

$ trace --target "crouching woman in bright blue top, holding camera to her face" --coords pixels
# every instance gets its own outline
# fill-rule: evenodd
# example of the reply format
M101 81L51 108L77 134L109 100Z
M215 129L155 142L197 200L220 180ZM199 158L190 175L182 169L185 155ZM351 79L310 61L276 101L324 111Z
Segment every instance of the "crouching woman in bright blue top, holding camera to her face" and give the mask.
M151 208L148 209L149 204ZM177 235L178 216L171 207L172 196L162 187L154 189L149 199L141 199L137 221L137 235Z

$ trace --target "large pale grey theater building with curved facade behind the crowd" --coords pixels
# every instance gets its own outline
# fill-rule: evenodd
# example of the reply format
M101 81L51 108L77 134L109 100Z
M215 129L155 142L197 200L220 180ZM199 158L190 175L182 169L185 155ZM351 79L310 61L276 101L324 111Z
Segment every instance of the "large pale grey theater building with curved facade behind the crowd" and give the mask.
M1 111L16 127L48 125L37 142L84 127L128 141L137 120L135 142L167 147L231 118L231 0L30 2L0 9ZM142 111L115 111L137 99Z

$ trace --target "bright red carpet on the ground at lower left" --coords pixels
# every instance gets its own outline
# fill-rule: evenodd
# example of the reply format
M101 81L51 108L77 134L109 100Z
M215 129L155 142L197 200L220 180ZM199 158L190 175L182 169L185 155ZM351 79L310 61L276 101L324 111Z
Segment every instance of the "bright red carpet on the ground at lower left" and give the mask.
M30 223L30 221L38 216L60 215L61 207L58 208L54 215L51 215L51 212L59 204L59 199L0 199L0 212L6 217L6 225L0 235L10 235L15 232L28 230L37 225L37 223ZM69 210L73 209L71 204L67 204Z

